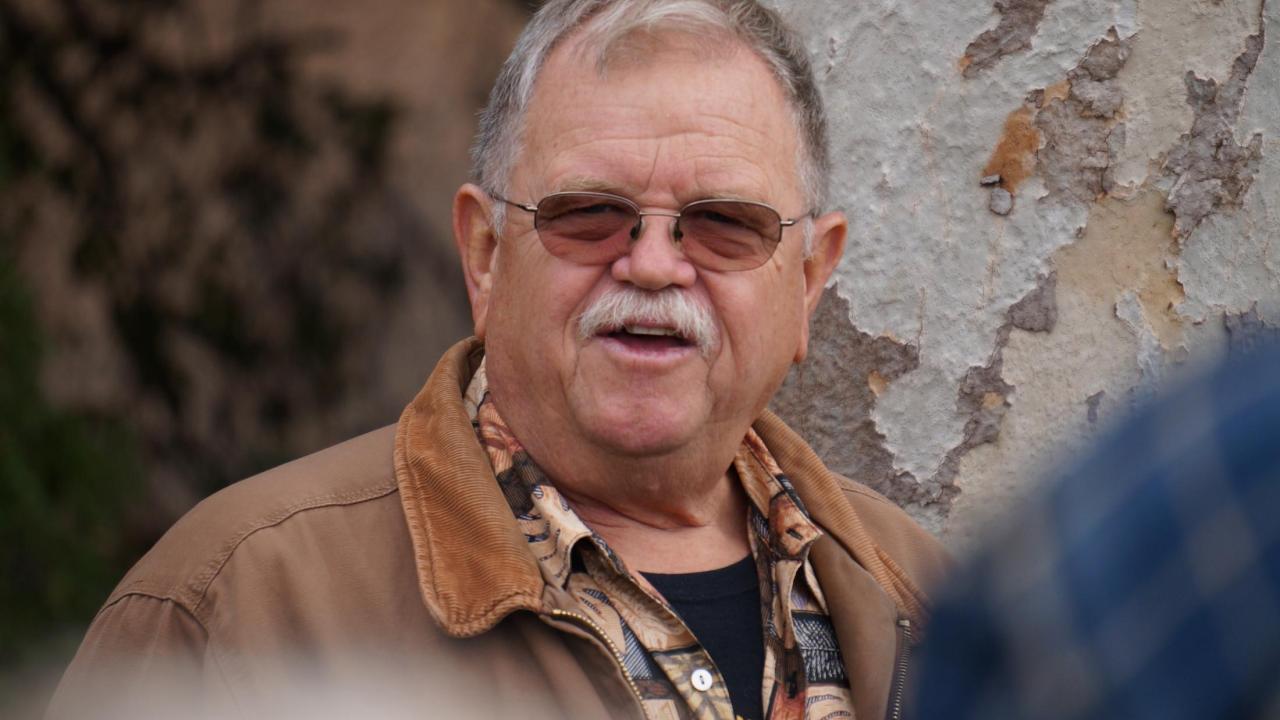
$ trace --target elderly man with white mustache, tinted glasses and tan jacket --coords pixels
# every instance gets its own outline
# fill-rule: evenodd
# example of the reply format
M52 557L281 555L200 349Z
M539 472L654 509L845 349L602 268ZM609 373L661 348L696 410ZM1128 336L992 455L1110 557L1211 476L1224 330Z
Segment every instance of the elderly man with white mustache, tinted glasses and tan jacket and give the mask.
M945 555L765 410L846 232L801 44L745 0L552 0L475 163L476 337L394 428L178 523L54 714L896 716Z

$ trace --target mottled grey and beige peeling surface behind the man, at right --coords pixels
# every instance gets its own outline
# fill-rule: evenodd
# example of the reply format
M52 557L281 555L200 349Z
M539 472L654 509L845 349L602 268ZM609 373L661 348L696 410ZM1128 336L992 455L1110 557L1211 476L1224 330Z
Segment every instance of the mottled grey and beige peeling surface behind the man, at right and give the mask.
M1280 325L1276 0L774 5L851 220L774 409L948 543Z

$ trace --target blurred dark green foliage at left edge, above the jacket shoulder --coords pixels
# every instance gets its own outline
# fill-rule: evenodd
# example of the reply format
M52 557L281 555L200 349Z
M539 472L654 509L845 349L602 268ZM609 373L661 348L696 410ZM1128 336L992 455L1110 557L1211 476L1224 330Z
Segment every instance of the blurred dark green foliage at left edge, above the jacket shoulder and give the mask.
M137 441L123 423L59 410L41 392L41 333L6 250L0 247L0 669L101 605L133 560L120 527L142 478Z

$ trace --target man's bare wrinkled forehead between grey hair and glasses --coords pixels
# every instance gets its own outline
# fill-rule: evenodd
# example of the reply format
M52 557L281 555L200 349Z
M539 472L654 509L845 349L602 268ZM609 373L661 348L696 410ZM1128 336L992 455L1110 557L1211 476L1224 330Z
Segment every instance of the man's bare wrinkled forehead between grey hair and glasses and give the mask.
M526 108L521 169L530 169L526 161L545 169L539 159L570 146L684 132L696 138L685 152L698 156L695 164L704 174L719 176L714 184L723 191L759 186L745 196L781 200L780 191L799 190L795 115L781 82L745 42L719 28L699 33L663 27L617 37L589 31L567 36L543 63ZM602 108L602 102L613 105ZM613 122L585 122L602 115ZM733 163L744 147L758 160L755 168ZM762 170L772 179L737 183L724 177L735 174L735 168L749 174Z

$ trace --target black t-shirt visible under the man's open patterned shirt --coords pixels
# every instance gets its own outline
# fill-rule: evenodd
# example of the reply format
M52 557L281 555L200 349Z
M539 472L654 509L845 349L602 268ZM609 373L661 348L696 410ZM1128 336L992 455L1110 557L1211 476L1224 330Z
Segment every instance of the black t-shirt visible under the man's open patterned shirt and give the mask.
M707 650L728 685L733 712L762 720L764 623L760 584L750 555L718 570L645 578L667 598Z

